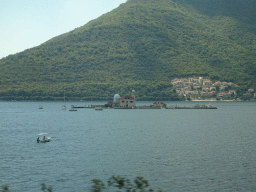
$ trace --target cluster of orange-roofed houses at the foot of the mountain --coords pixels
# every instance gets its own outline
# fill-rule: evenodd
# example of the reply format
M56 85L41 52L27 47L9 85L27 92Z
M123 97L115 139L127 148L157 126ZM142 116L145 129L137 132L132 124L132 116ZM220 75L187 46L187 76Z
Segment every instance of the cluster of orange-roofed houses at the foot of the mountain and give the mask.
M187 100L254 100L254 89L239 92L239 86L232 82L213 82L203 77L175 78L171 81L176 93Z

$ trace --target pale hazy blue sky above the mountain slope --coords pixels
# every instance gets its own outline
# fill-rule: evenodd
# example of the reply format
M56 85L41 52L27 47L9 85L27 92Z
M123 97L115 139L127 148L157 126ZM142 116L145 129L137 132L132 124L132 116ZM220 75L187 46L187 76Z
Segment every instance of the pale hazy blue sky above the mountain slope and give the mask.
M0 59L85 25L126 0L1 0Z

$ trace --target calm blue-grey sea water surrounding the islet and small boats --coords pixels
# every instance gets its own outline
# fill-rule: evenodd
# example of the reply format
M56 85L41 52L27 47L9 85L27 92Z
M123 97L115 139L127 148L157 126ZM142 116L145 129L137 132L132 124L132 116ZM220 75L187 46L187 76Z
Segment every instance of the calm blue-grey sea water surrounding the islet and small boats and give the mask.
M256 191L254 102L212 102L217 110L76 112L62 104L0 102L0 186L34 192L45 183L56 192L80 192L94 178L106 184L121 175L142 176L165 192ZM42 132L51 142L36 143Z

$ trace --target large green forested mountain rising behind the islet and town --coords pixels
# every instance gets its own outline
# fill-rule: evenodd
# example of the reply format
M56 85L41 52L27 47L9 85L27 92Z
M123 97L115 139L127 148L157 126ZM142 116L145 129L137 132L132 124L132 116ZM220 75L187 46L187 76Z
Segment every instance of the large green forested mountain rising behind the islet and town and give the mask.
M128 0L73 31L0 60L1 99L178 99L170 80L256 89L254 0Z

